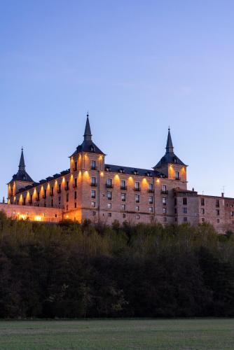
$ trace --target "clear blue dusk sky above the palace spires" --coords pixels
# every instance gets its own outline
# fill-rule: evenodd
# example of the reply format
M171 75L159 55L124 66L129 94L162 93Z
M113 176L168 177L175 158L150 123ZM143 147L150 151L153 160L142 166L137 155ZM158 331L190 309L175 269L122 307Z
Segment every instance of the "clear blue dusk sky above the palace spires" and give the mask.
M1 0L0 198L69 168L90 114L109 164L174 152L188 189L234 197L234 2Z

